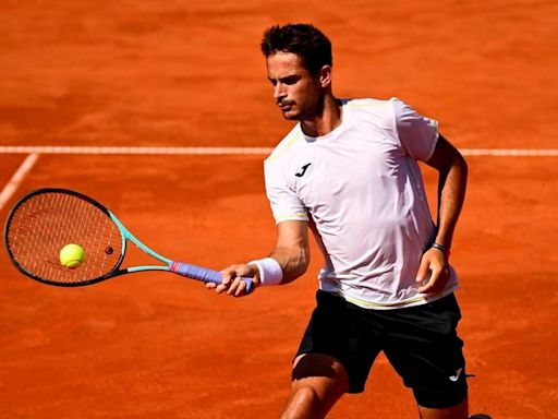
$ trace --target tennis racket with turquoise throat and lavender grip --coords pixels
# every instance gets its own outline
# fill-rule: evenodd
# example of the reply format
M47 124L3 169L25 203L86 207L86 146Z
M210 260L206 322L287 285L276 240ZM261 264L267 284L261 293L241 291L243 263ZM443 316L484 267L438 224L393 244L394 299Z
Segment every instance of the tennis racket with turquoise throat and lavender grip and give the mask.
M222 282L220 272L161 256L142 243L105 206L65 189L39 189L23 196L8 215L4 241L15 267L48 285L92 285L144 271L172 272L204 283ZM121 267L128 242L161 264ZM60 262L60 250L69 243L78 244L85 251L78 267L65 267ZM248 292L252 279L243 280Z

